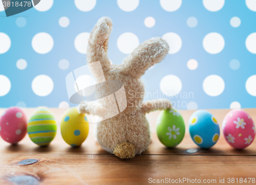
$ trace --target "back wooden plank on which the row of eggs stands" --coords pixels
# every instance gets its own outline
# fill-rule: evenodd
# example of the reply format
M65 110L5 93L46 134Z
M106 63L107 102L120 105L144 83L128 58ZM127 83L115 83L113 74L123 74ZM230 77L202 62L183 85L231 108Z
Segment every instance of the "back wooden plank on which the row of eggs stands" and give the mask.
M4 109L0 109L0 115ZM24 109L26 115L30 117L34 109ZM34 144L28 137L25 137L18 145L10 145L5 142L2 138L0 139L0 153L20 153L20 154L39 154L39 153L51 153L51 154L108 154L105 152L95 141L93 137L94 125L90 124L89 136L86 141L79 148L70 147L65 141L63 141L60 134L60 120L62 118L63 113L66 111L65 109L51 109L58 123L58 130L55 139L52 141L49 147L38 147ZM225 115L230 110L209 110L212 114L214 114L221 126L222 120ZM256 120L256 109L246 109L248 114L252 117L253 120ZM175 148L166 148L164 145L160 143L156 136L156 119L159 115L159 111L148 114L148 119L151 123L152 130L152 142L148 149L142 154L180 154L187 155L187 149L190 148L198 148L197 145L191 140L188 133L188 120L191 114L194 111L180 111L184 121L186 123L186 135L183 141ZM90 117L89 117L90 120ZM236 150L229 146L223 135L221 130L220 139L217 144L210 149L200 149L197 153L191 155L256 155L256 142L253 142L249 147L244 150Z

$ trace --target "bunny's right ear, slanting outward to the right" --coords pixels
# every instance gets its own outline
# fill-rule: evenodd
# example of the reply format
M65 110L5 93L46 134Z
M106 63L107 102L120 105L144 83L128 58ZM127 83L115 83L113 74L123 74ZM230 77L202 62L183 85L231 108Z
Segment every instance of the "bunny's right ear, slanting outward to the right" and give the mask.
M141 77L145 71L163 60L168 54L167 42L155 37L140 44L127 58L124 59L121 69L126 75L135 78Z

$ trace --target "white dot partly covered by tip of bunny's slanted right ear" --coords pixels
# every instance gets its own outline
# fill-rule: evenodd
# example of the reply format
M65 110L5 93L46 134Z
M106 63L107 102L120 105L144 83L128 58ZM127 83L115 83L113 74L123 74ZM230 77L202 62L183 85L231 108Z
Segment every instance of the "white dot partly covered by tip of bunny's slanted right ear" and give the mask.
M162 36L164 40L169 44L169 54L176 54L182 46L182 40L176 33L166 33Z

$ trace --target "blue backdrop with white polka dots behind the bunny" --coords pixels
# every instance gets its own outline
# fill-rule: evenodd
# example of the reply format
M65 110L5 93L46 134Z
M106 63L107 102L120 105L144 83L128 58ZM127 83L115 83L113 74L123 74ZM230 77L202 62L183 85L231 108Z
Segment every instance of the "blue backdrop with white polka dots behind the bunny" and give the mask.
M115 27L108 51L113 64L147 39L162 37L170 45L165 60L142 77L145 100L184 101L176 109L255 107L255 0L41 0L8 18L0 4L0 16L3 108L75 106L65 78L86 64L89 33L102 16Z

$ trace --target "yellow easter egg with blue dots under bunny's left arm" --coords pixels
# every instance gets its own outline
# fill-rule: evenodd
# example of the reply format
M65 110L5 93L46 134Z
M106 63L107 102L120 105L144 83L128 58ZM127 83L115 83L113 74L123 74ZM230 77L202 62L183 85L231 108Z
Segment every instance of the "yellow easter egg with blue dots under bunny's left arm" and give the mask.
M89 133L86 115L78 114L77 108L68 109L61 120L60 131L66 143L73 147L80 146Z

